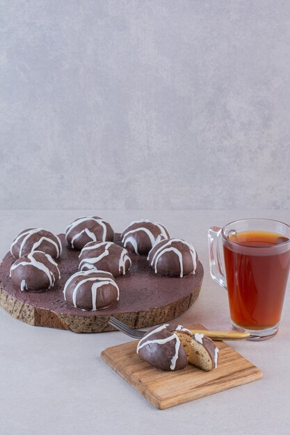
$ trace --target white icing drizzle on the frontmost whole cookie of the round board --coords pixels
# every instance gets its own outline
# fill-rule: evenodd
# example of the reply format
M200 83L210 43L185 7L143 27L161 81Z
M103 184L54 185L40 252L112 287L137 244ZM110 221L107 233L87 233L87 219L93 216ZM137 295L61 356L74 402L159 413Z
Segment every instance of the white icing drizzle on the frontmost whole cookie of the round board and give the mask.
M115 283L115 280L113 279L113 276L110 272L105 272L102 270L102 274L108 274L108 277L89 277L91 273L95 273L95 270L86 270L86 272L76 272L75 274L73 274L69 279L67 279L67 282L65 283L65 288L63 289L63 296L65 298L65 301L67 300L66 298L66 290L67 290L67 286L69 286L69 284L72 282L72 279L74 279L75 277L83 277L84 279L82 279L81 281L79 281L78 284L76 284L74 291L72 293L72 303L74 305L75 308L77 308L76 306L76 296L78 293L79 288L85 284L87 281L92 281L92 286L91 286L91 292L92 292L92 311L96 311L97 307L96 307L96 303L97 303L97 289L101 286L104 286L106 284L111 284L112 286L114 286L117 289L118 292L118 296L117 296L117 300L119 300L119 296L120 296L120 292L119 292L119 287L118 285ZM88 278L87 278L88 277ZM95 281L95 282L94 282Z

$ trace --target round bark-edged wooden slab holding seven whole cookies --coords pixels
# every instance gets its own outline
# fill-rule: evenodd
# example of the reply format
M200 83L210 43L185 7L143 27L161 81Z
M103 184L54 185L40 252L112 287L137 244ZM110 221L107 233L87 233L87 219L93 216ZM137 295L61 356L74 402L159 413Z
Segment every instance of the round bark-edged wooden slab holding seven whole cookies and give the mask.
M67 329L76 333L113 331L108 325L111 315L127 325L140 328L158 325L181 315L198 298L204 270L202 263L194 275L163 277L149 267L146 257L130 254L132 266L124 277L116 279L120 300L114 306L99 311L81 311L63 299L63 287L68 277L78 270L79 252L68 249L64 234L60 235L63 253L58 258L61 281L57 288L44 293L22 292L9 277L15 261L8 253L0 265L0 306L13 317L29 325ZM120 234L115 234L120 245Z

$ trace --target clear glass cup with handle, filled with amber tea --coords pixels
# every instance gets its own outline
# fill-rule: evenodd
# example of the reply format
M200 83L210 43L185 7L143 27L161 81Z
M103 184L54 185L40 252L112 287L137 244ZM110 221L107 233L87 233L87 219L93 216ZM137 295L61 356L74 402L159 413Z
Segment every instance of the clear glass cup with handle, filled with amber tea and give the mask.
M275 336L290 268L289 225L243 219L211 227L208 236L211 277L227 290L232 327L255 340Z

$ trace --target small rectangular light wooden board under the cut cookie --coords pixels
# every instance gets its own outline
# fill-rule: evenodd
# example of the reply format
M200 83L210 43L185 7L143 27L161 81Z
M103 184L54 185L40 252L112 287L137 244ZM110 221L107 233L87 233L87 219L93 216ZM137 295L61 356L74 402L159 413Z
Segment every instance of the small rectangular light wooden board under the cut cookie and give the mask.
M205 329L193 325L190 329ZM216 341L218 368L203 372L188 364L184 370L163 372L136 354L138 340L103 350L101 358L156 408L166 409L234 386L261 379L261 370L223 341Z

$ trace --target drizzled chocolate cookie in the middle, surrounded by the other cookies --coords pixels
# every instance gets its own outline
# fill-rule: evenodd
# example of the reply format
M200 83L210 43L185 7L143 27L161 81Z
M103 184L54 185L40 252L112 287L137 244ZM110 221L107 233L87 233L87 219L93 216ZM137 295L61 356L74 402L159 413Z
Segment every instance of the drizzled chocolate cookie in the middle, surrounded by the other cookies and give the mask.
M113 242L87 243L79 255L79 270L106 270L119 277L131 268L127 249Z

